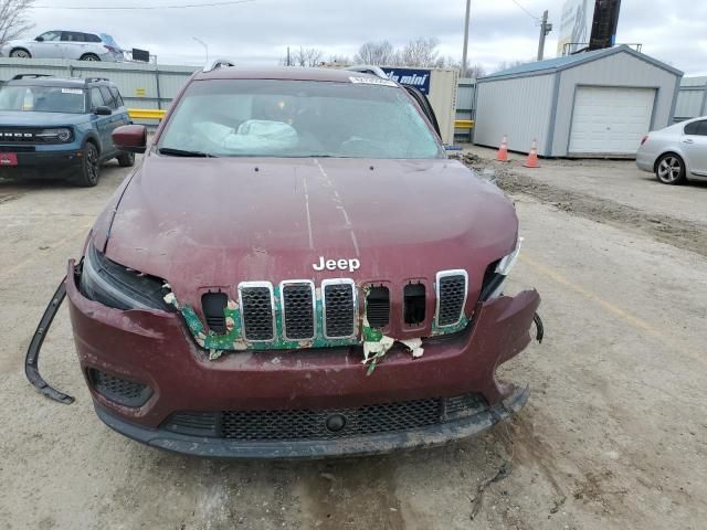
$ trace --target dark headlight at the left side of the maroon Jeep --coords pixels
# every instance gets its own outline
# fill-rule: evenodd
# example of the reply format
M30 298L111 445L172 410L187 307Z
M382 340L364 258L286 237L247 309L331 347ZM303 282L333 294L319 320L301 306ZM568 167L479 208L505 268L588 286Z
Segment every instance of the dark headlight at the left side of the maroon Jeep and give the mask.
M165 303L165 283L112 262L93 244L86 248L80 289L86 298L115 309L160 309L172 311Z

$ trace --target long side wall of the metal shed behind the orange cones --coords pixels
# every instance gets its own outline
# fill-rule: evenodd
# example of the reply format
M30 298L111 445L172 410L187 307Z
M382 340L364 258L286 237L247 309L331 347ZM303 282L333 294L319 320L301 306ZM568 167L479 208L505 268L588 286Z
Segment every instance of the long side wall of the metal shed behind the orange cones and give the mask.
M548 156L547 134L556 75L479 82L474 142L498 147L507 135L510 150L528 152L535 138L538 153Z

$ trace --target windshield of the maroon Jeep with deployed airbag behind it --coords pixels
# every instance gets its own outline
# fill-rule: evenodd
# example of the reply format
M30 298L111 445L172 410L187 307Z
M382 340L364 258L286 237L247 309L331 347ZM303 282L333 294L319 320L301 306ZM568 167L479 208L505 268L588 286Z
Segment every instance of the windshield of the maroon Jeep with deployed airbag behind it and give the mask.
M158 149L217 157L444 157L401 88L277 80L192 83Z

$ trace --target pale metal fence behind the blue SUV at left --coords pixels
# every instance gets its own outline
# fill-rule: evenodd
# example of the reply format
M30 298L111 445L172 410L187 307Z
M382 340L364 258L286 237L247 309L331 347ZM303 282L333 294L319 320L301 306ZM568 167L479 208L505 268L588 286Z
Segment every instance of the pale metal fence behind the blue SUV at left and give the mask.
M116 84L126 105L135 108L167 108L196 66L144 63L95 63L61 59L0 59L0 80L17 74L51 74L61 77L107 77ZM157 89L159 80L159 93Z

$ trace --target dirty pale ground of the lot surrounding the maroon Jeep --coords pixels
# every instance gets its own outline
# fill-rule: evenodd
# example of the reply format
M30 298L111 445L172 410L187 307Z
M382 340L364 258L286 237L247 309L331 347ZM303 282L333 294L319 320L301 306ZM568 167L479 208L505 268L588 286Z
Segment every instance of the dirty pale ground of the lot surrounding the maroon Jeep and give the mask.
M200 460L113 433L65 307L41 368L77 401L40 396L22 373L30 336L127 172L88 190L0 182L0 529L705 528L707 186L659 186L632 162L473 165L517 204L510 290L544 298L546 341L502 370L529 404L445 447L299 463Z

